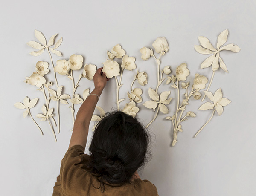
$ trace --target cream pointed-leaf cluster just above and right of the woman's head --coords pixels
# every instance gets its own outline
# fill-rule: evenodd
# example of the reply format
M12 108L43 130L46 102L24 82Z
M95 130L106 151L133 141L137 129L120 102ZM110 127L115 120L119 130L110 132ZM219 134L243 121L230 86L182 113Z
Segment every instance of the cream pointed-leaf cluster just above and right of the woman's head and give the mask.
M149 109L153 109L154 111L158 106L160 111L163 114L168 114L169 110L165 105L169 104L172 101L172 97L167 99L168 96L170 95L170 93L171 93L171 91L164 91L159 96L158 93L154 89L149 88L148 95L152 100L146 101L143 104L143 106L145 106Z

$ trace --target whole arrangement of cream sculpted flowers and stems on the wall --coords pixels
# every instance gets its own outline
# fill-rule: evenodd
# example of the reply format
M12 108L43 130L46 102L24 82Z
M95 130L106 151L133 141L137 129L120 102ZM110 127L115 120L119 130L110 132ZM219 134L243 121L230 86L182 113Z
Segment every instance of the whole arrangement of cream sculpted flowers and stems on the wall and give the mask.
M228 31L227 29L218 36L218 42L216 49L212 46L212 44L209 42L209 40L206 37L199 36L198 40L201 43L201 46L196 45L195 50L201 54L212 54L210 57L208 57L202 64L201 69L207 68L209 66L212 66L212 77L210 79L210 82L208 84L207 90L204 90L204 96L201 101L204 101L205 96L207 96L211 102L206 102L199 107L198 110L213 110L212 116L209 118L209 120L201 127L200 130L195 134L195 137L198 135L198 133L201 132L201 130L209 123L209 121L212 119L215 111L217 111L218 115L221 115L223 112L223 106L226 106L227 104L230 104L230 100L227 98L222 98L222 92L221 88L219 88L215 94L213 95L212 92L209 92L209 88L213 81L213 76L215 74L215 71L218 70L219 67L223 69L225 72L227 72L227 66L223 62L222 58L220 57L220 52L222 50L230 50L232 52L239 52L240 48L237 45L227 44L226 46L223 46L224 43L227 41L227 35ZM56 61L56 66L54 66L54 63L52 61L51 53L61 56L61 52L56 50L62 43L62 38L59 39L55 44L55 37L57 34L52 35L52 37L49 39L48 43L46 43L46 39L44 35L35 30L35 37L38 39L38 42L35 41L29 41L27 44L35 49L38 49L38 51L33 51L30 54L33 56L41 55L44 50L47 50L49 53L49 61L52 64L52 70L49 69L49 64L44 61L38 61L35 65L36 72L33 72L30 77L26 77L25 82L27 84L37 86L38 90L42 92L43 97L45 99L45 104L41 106L41 110L43 114L38 114L36 117L40 118L41 121L48 121L49 127L52 130L52 133L54 135L55 141L57 141L54 127L58 126L58 133L60 133L60 113L59 113L59 105L66 104L68 105L68 101L70 101L70 111L73 119L73 123L75 121L75 107L76 104L81 104L84 99L89 95L90 89L84 88L85 90L83 92L83 96L80 97L79 94L76 94L76 89L79 87L79 81L81 78L87 78L88 80L93 79L93 75L96 72L96 66L93 64L84 64L84 59L81 55L71 55L69 59L59 59ZM54 46L53 46L54 45ZM50 47L53 46L53 47ZM103 62L103 72L106 73L106 76L108 78L115 78L116 81L116 108L117 110L123 111L127 113L128 115L131 115L135 117L137 113L140 110L146 110L153 109L154 117L153 119L146 125L146 127L150 126L156 119L159 112L162 112L163 114L169 114L168 105L173 100L173 97L170 97L171 91L176 90L177 91L177 97L175 98L175 110L172 115L167 115L166 120L171 121L170 128L173 133L172 138L172 146L175 146L177 143L177 135L179 132L183 132L182 129L182 123L183 121L188 120L189 117L194 118L195 112L192 111L186 111L186 106L189 104L190 98L194 98L195 100L201 99L201 90L204 89L208 83L208 79L204 75L200 75L198 73L195 73L195 78L193 81L187 81L187 77L190 74L190 71L188 69L188 66L186 63L182 63L176 67L175 73L171 75L172 71L170 66L163 66L161 68L161 57L163 55L166 55L166 53L169 51L169 45L165 37L158 37L153 43L152 43L153 49L143 47L140 49L141 58L146 61L149 58L154 58L156 62L156 68L157 68L157 84L155 87L148 87L147 92L150 100L144 101L142 99L143 89L145 88L146 84L148 84L148 75L145 71L140 72L138 70L137 65L135 64L135 58L132 56L128 56L124 49L122 49L122 46L117 44L116 46L113 46L110 51L107 51L108 59ZM221 47L222 46L222 47ZM115 59L122 59L119 64ZM82 69L83 67L83 69ZM137 71L134 71L134 69L137 68ZM79 78L75 81L75 78L73 76L73 71L79 71L82 69L82 72L79 75ZM126 98L119 98L119 90L123 86L122 84L122 75L124 74L124 71L132 71L134 72L134 79L131 81L131 87L129 87L127 92ZM46 75L49 71L54 72L54 78L55 78L55 89L53 89L54 82L47 81L44 75ZM69 80L71 80L72 83L72 89L70 95L68 94L62 94L62 89L64 86L58 86L58 81L56 77L56 73L59 74L58 77L67 77ZM127 71L125 71L127 72ZM118 78L119 77L119 78ZM163 84L163 81L166 80L166 84L168 85L168 88L166 91L158 92L159 86ZM141 88L133 88L134 82L137 81ZM192 82L192 86L190 85L190 82ZM191 88L189 88L191 86ZM184 91L185 93L182 93ZM50 100L56 101L56 107L49 108L49 102ZM120 108L120 103L122 101L127 100L128 102L125 104L123 108ZM36 123L35 119L32 117L30 109L35 106L37 103L38 98L34 98L31 101L29 101L29 98L24 98L23 103L17 102L15 103L15 107L19 109L26 109L26 111L23 112L23 117L25 118L28 114L32 118L32 121L35 123L35 125L40 130L41 135L43 135L43 131ZM172 101L174 102L174 101ZM142 106L140 106L140 104ZM105 115L105 111L102 107L96 106L96 108L99 110L100 115L93 115L92 121L100 121L102 117ZM54 118L54 112L57 112L57 118L58 118L58 124L55 121ZM95 125L93 127L93 130L95 129Z

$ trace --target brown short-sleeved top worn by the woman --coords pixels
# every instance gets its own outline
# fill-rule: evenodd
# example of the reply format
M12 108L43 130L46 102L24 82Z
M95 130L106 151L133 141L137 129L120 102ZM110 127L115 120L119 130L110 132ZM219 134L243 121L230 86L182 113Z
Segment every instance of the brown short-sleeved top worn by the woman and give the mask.
M89 158L80 145L67 150L52 196L158 196L154 184L141 179L119 187L107 183L102 193L97 177L86 169Z

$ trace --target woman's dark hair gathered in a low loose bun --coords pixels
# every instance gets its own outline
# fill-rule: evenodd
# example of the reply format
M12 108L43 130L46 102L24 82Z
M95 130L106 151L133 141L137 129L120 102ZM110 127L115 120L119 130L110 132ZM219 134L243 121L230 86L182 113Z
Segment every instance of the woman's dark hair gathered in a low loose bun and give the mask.
M104 192L104 183L130 183L138 168L151 158L148 130L137 118L121 111L106 113L96 125L90 144L88 168L98 176Z

